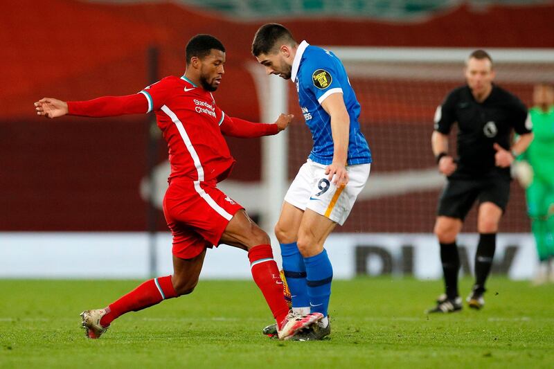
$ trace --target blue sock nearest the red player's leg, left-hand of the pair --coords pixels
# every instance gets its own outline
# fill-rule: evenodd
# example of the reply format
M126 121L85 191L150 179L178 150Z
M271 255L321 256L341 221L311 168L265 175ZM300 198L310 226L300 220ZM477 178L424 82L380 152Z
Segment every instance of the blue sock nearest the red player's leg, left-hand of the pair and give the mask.
M310 306L310 298L307 297L304 258L298 251L296 242L280 244L280 246L283 271L285 271L285 278L287 278L287 285L289 285L292 296L292 307L308 307Z

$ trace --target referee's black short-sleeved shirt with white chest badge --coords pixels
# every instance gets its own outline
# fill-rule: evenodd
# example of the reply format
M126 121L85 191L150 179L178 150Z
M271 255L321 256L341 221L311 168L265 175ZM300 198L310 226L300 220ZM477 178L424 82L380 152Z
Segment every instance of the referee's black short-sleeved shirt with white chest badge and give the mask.
M458 169L452 177L474 177L487 173L510 177L510 168L494 165L496 150L492 144L499 143L510 150L512 128L517 134L531 132L527 108L519 98L493 84L488 98L477 102L467 84L458 87L437 108L435 129L449 134L454 123L458 123Z

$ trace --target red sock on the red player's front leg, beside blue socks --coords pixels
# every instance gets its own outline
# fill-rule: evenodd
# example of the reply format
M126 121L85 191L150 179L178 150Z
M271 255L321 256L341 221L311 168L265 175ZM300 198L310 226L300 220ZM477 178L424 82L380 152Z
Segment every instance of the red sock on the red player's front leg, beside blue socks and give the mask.
M289 307L283 296L283 282L279 275L277 263L273 260L273 252L269 244L254 246L248 251L250 269L254 282L262 290L262 294L277 321L279 329L281 322L289 312Z

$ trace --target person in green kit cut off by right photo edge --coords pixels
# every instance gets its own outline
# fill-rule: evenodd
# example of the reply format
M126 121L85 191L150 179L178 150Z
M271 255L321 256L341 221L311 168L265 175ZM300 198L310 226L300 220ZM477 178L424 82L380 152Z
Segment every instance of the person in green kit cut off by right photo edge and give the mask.
M535 282L554 282L554 86L541 83L529 110L535 138L515 164L515 177L527 195L531 230L537 243L539 271Z

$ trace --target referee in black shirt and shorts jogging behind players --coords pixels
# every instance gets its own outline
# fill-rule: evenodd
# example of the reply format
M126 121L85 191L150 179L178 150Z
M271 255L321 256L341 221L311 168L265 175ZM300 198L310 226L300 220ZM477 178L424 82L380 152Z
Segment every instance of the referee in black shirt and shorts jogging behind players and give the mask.
M462 308L458 294L460 258L456 235L474 202L479 203L475 254L475 284L467 297L470 307L485 304L485 281L490 273L499 221L510 195L510 165L533 140L527 108L512 93L492 83L492 58L474 51L465 63L467 84L452 90L435 114L431 146L438 170L448 181L440 195L434 233L440 243L445 294L428 313L456 312ZM458 123L457 156L448 152L448 134ZM512 128L519 139L510 147Z

